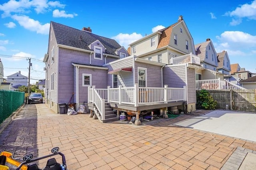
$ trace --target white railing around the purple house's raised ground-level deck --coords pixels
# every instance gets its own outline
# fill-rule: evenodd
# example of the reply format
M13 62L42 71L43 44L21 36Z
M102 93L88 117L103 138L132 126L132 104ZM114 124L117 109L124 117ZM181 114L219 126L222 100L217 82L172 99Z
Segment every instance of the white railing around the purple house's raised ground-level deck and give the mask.
M93 87L95 88L95 87ZM88 95L92 95L92 89L88 88ZM102 91L102 89L100 89ZM98 94L99 89L94 89ZM168 103L172 101L186 101L186 86L183 88L164 87L121 87L104 89L104 95L94 95L93 99L88 97L89 102L97 102L100 99L108 100L109 103L134 105L151 105L154 103ZM98 99L100 97L100 99ZM97 99L96 99L97 98ZM95 102L94 102L95 103ZM96 105L96 104L95 104ZM100 103L97 104L99 107Z

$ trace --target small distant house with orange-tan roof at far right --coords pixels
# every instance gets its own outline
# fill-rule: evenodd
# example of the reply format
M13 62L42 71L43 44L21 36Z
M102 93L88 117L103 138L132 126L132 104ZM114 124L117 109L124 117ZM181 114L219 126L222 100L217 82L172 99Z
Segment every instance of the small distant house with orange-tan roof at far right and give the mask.
M241 68L238 63L231 64L230 66L231 66L230 75L234 77L238 77L241 80L246 80L252 77L252 75L254 74L254 73L251 73L250 71L246 71L245 68Z

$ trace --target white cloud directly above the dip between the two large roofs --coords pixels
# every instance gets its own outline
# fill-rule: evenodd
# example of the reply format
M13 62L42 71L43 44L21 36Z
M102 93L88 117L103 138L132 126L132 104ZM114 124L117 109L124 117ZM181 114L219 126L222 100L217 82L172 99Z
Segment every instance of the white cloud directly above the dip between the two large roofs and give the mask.
M112 37L112 39L118 41L118 43L121 46L124 46L125 48L127 48L130 43L135 42L136 40L139 40L140 38L142 38L142 35L137 34L136 32L134 32L132 34L120 33L117 36Z

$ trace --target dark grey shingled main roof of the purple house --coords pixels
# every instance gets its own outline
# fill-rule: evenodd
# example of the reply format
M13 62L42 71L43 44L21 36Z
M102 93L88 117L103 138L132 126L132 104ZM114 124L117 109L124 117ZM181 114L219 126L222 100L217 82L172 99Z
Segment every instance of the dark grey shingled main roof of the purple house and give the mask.
M51 25L58 44L93 51L88 47L88 45L90 45L92 42L95 42L96 40L99 40L106 48L105 53L110 55L116 55L116 49L121 47L121 45L119 45L116 40L98 36L96 34L92 34L91 32L78 30L76 28L65 26L52 21ZM80 36L82 40L80 40Z

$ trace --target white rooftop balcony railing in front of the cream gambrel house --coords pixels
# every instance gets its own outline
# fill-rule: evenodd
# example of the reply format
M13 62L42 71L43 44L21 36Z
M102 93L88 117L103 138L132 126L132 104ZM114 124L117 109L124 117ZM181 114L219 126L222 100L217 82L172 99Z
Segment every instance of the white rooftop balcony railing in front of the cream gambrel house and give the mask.
M194 64L200 65L200 57L190 53L187 55L171 58L169 62L172 65L185 64L185 63L194 63Z

